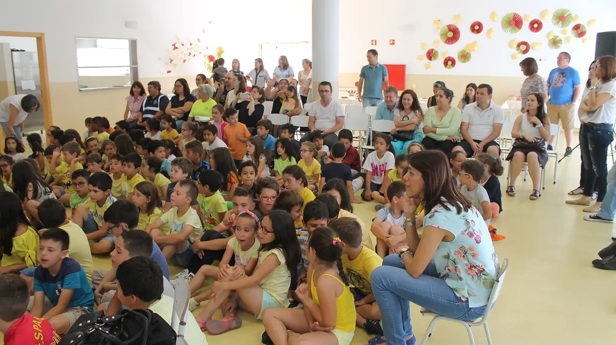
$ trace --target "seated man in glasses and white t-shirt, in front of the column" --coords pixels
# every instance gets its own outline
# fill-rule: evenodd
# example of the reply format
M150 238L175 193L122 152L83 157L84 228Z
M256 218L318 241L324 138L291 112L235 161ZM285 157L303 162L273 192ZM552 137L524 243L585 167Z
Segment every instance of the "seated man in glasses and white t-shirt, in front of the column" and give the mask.
M320 102L314 102L309 110L308 129L299 142L310 140L313 131L321 131L323 143L330 148L338 142L338 132L344 127L344 108L331 98L333 91L329 81L318 84Z

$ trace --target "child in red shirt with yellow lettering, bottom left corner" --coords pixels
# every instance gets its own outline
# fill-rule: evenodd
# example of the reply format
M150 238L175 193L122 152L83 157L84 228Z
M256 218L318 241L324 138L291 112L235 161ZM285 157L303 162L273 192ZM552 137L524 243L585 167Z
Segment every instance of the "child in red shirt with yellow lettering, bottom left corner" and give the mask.
M0 332L5 345L55 345L60 336L51 323L25 314L30 291L17 275L0 275Z

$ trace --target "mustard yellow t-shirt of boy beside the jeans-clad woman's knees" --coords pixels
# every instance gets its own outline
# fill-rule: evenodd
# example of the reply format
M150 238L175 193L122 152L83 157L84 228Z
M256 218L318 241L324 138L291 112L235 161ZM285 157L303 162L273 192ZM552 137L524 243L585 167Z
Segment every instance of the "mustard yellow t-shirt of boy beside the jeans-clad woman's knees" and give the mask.
M383 266L383 259L375 251L362 247L355 260L349 260L348 254L342 254L342 268L355 288L368 296L372 293L370 274L376 267Z

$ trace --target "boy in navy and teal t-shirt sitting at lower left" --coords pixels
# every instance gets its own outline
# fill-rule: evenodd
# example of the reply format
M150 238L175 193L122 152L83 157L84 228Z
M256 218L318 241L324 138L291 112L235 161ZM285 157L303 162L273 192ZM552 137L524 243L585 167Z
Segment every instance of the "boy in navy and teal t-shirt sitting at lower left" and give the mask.
M49 229L39 241L41 265L34 270L34 302L30 314L49 320L59 334L67 333L81 315L94 311L94 293L86 272L68 256L68 233ZM47 298L53 306L44 310Z

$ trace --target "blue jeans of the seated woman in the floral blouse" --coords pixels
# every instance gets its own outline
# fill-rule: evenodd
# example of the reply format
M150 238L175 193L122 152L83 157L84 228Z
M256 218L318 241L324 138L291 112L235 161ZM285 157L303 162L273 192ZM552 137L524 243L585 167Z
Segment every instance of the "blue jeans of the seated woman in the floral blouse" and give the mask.
M413 335L409 302L458 320L475 320L485 314L486 306L471 308L468 301L460 301L445 280L438 277L432 263L422 275L413 278L398 255L392 254L384 259L383 266L372 271L370 280L387 344L405 345L405 337Z

